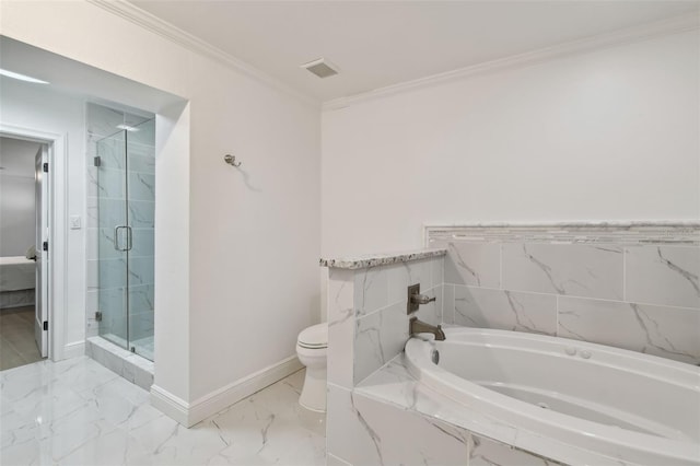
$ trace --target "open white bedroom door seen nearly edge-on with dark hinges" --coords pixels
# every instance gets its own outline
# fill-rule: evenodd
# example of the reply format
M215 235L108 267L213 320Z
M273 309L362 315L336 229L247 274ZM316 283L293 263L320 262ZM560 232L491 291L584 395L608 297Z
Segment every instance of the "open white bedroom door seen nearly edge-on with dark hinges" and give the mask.
M36 215L36 279L34 339L42 358L48 356L48 145L34 158L34 203Z

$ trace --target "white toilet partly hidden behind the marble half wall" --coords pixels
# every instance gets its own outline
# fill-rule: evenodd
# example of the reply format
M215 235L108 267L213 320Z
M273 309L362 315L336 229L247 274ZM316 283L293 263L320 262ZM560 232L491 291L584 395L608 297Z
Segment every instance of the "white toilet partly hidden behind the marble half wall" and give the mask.
M312 325L296 338L296 356L306 366L304 388L299 404L316 412L326 412L326 349L328 324Z

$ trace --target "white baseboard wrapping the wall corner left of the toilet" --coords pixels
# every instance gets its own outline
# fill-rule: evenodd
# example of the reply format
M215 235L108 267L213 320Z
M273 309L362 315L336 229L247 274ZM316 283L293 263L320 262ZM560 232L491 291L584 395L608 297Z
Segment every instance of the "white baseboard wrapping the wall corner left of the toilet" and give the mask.
M151 404L180 424L191 427L234 403L241 401L243 398L293 374L303 366L296 356L291 356L213 391L190 404L154 384L151 386Z

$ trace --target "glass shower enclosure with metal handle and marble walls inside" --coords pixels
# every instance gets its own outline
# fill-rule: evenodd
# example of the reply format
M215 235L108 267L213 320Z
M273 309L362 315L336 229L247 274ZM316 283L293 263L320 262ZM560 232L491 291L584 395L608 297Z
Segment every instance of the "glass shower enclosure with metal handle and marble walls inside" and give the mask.
M114 127L113 127L114 128ZM154 120L117 125L97 139L96 185L98 334L153 360Z

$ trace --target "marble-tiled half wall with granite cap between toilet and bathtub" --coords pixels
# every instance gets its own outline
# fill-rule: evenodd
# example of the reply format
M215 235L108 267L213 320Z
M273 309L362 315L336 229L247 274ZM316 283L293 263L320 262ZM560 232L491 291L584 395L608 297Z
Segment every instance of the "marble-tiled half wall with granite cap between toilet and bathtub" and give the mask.
M329 382L351 388L402 351L409 338L406 302L410 284L420 283L422 293L438 298L438 303L422 305L417 316L433 325L442 322L444 254L444 249L432 249L380 255L383 264L365 268L348 260L328 260L340 265L329 268Z

